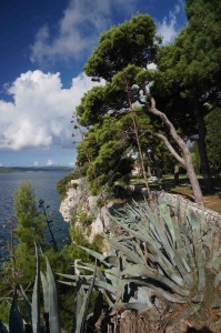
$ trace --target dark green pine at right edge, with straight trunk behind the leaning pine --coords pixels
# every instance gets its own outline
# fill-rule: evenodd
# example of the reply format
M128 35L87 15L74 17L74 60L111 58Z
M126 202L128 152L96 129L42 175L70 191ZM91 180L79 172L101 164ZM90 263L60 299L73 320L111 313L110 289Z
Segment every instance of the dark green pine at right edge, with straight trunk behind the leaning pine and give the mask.
M187 1L187 27L172 44L158 54L152 93L159 108L173 117L187 137L198 139L201 171L212 191L207 155L205 103L220 104L221 3L220 1Z

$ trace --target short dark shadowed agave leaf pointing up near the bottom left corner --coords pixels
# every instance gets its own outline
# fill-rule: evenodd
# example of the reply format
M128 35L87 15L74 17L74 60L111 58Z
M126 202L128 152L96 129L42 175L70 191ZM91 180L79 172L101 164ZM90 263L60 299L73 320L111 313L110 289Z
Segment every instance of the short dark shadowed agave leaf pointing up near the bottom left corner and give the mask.
M13 293L13 300L10 307L9 314L9 332L10 333L24 333L23 320L19 311L17 301L17 291Z

